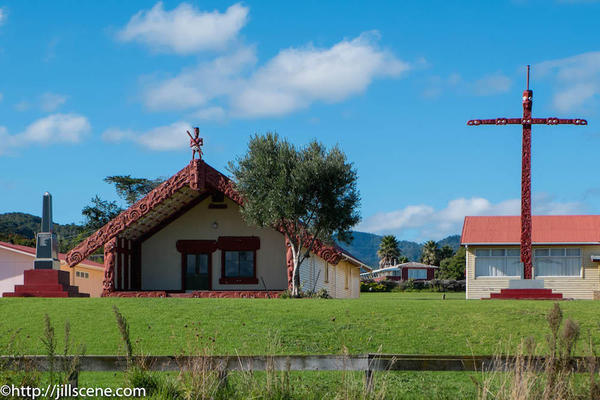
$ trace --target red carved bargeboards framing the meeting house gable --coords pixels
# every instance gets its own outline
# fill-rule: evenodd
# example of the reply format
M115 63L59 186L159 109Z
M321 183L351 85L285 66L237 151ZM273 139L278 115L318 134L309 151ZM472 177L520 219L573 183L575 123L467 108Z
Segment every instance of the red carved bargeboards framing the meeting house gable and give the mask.
M156 187L144 198L133 204L127 210L123 211L113 220L108 222L98 231L93 233L77 247L67 254L67 264L71 267L80 263L82 260L94 253L98 248L105 246L104 251L104 282L103 295L109 295L115 290L114 286L114 268L116 258L116 239L117 235L125 231L140 218L147 215L150 211L160 205L163 201L173 196L177 191L185 186L192 190L203 192L207 189L216 190L223 193L232 201L243 205L242 196L237 192L233 182L221 174L219 171L206 164L203 160L192 160L185 168L177 172L171 178ZM283 233L283 230L279 229ZM308 237L305 239L307 240ZM112 244L111 244L112 243ZM288 252L289 253L289 252ZM335 246L326 245L320 240L315 240L313 253L324 259L330 264L336 265L341 259L341 251ZM287 257L286 257L287 258ZM289 267L289 259L288 267ZM119 293L146 293L146 292L119 292ZM162 292L147 292L162 293ZM155 295L160 297L159 295Z

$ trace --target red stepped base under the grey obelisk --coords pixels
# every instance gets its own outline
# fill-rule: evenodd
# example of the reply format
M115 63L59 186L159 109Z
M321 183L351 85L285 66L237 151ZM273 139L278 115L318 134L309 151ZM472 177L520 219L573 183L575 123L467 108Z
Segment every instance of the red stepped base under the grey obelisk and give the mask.
M90 297L69 283L69 272L55 269L29 269L23 273L23 285L4 297Z

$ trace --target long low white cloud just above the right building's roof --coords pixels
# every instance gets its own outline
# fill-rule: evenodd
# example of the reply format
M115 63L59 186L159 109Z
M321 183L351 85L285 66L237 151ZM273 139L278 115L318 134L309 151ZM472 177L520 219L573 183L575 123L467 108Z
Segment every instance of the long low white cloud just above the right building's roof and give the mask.
M420 204L378 213L366 218L356 229L398 235L411 231L416 232L417 240L439 240L460 233L467 215L519 215L520 207L520 199L492 203L481 197L459 198L449 201L440 210ZM535 195L533 207L533 212L541 215L580 214L587 209L581 202L560 202L546 194Z

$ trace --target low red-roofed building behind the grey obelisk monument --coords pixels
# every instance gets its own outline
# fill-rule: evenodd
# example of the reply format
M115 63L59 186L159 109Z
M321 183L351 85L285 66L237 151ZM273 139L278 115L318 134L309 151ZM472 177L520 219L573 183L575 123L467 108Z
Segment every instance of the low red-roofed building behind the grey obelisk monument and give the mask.
M69 267L66 254L59 254L60 269L68 271L71 285L78 286L80 293L88 293L91 297L102 294L104 266L83 260ZM3 293L14 290L15 285L23 284L23 271L33 269L35 248L12 243L0 242L0 297Z

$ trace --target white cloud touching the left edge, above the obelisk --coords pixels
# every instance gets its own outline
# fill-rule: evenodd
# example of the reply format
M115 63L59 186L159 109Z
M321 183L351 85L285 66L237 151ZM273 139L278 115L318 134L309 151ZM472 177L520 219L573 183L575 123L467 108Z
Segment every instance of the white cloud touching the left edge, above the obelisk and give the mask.
M52 114L34 121L16 135L10 135L5 127L0 126L0 154L34 144L78 143L90 129L88 119L79 114Z

